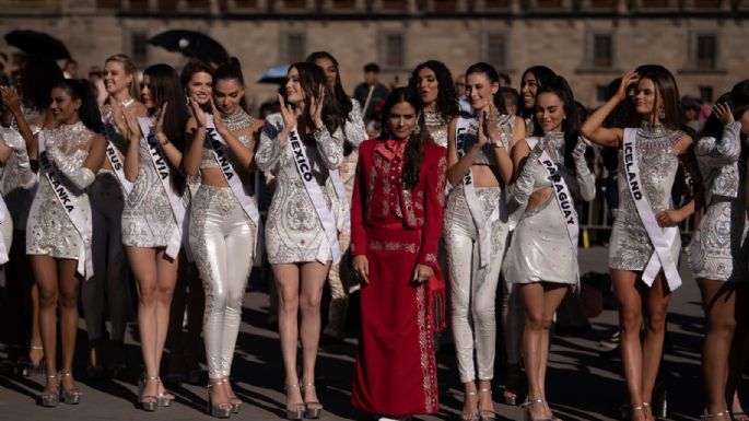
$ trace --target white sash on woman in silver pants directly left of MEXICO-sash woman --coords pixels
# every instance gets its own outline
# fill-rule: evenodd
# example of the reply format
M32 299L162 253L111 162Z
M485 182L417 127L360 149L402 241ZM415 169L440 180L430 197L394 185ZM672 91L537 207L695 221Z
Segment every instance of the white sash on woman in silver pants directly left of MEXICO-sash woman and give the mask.
M255 247L257 248L257 238L262 232L260 229L260 212L258 211L257 204L255 204L253 197L247 195L245 191L245 188L242 185L242 179L239 179L239 176L236 175L234 166L232 166L232 163L229 161L229 148L221 138L221 135L219 135L219 132L215 130L213 116L210 114L206 115L206 144L211 152L213 152L213 157L215 159L215 162L219 163L219 167L221 167L221 174L223 174L224 178L226 178L226 183L232 189L234 197L239 202L245 213L247 213L247 217L249 217L250 221L253 221L257 227L257 235L255 235Z

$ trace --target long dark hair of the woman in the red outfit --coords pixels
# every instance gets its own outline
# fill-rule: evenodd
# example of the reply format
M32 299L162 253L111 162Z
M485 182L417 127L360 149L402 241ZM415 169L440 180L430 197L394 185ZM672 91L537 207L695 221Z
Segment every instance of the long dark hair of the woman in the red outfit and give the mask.
M417 133L414 130L408 138L408 143L406 144L406 163L403 164L403 171L400 176L400 182L406 188L412 189L419 183L419 169L424 162L424 144L431 142L432 137L429 135L426 126L424 125L424 105L421 103L419 94L411 87L396 87L387 96L387 100L385 100L385 104L383 105L383 132L379 138L382 140L387 140L389 138L387 127L390 109L399 103L409 103L419 115L419 121L417 122L419 132Z

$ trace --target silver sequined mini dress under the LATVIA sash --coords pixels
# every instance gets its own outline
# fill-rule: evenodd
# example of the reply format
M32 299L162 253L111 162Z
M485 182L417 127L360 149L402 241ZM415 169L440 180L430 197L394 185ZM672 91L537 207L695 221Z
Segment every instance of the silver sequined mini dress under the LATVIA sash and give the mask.
M148 141L141 138L138 145L138 178L122 210L122 244L133 247L166 247L176 229L177 222L166 190L151 161Z

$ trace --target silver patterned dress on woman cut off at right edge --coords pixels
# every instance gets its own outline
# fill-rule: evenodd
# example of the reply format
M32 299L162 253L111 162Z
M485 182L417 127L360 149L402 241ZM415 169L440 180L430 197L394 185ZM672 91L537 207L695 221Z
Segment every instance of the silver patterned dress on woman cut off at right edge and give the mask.
M702 138L695 154L705 186L706 211L689 244L694 278L747 280L747 223L744 195L746 159L741 156L739 121L729 122L721 139Z

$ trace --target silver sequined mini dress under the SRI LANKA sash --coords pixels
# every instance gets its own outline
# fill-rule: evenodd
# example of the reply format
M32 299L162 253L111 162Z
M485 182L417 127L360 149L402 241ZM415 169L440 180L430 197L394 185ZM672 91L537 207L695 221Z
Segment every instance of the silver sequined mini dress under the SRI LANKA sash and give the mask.
M83 122L63 125L57 129L43 131L47 149L57 147L75 166L83 166L94 137ZM71 192L71 200L81 210L91 232L89 195L65 178L62 183ZM78 260L81 241L81 234L55 195L51 183L46 176L39 175L39 187L34 196L26 222L26 254ZM91 242L91 238L85 238L85 242Z

